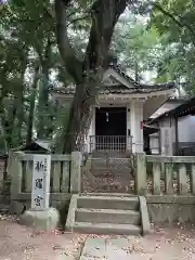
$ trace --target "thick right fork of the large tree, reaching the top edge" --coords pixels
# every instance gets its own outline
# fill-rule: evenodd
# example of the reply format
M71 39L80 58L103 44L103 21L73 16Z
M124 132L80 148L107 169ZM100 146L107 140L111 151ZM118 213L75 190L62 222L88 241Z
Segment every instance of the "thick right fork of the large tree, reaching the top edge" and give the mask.
M92 5L92 25L86 50L84 67L105 67L113 31L128 0L96 0Z

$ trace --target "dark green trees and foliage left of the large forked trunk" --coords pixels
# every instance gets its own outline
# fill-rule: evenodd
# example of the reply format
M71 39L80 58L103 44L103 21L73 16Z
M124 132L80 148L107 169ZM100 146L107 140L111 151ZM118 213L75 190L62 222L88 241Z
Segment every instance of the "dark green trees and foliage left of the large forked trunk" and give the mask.
M24 143L27 132L31 138L52 140L57 123L62 125L49 92L52 68L57 70L58 82L65 83L60 77L63 67L50 8L49 1L13 0L0 10L0 150L3 152Z

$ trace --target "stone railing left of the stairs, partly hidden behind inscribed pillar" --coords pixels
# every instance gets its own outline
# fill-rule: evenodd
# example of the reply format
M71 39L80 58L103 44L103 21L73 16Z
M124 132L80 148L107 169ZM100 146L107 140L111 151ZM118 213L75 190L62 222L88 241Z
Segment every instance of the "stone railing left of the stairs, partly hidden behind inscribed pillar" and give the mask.
M9 176L11 177L11 199L29 200L31 194L34 154L15 152L11 155ZM81 187L81 153L51 155L51 196L79 193ZM70 174L72 172L72 174Z

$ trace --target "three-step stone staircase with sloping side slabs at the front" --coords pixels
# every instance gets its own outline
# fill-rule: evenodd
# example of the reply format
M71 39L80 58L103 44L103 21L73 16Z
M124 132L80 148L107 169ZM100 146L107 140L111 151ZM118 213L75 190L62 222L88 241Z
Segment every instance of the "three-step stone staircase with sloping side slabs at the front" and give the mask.
M73 195L66 230L87 234L148 234L145 197L123 194Z

